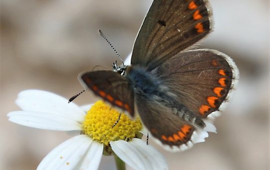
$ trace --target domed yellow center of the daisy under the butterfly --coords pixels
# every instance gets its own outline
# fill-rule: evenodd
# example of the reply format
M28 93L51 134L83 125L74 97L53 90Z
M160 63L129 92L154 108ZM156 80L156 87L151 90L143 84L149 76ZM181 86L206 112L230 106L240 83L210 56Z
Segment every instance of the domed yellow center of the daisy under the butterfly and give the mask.
M141 123L139 118L131 120L126 114L121 114L102 101L96 102L85 116L84 133L104 145L110 141L126 140L139 136ZM113 125L117 124L113 127Z

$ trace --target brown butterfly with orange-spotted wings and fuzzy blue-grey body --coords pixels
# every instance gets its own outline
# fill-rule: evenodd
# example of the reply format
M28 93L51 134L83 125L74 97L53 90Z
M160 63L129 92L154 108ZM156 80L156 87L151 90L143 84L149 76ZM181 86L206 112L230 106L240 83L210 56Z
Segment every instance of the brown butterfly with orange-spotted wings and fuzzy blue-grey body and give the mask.
M231 57L192 47L212 31L208 0L153 0L138 32L131 65L84 72L83 86L131 117L139 115L170 151L203 142L238 82Z

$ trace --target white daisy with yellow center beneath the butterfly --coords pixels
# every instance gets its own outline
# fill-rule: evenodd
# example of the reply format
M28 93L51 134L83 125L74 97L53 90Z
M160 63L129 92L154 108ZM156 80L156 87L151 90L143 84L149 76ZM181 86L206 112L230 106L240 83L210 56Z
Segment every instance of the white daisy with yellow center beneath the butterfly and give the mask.
M23 111L7 114L9 121L24 126L72 131L77 135L54 148L39 164L37 170L97 170L103 154L115 155L118 169L124 163L135 170L167 170L164 157L152 146L139 139L141 123L130 120L102 101L91 109L78 107L56 94L41 90L25 90L18 94L16 104ZM122 163L121 163L122 162ZM121 168L122 166L122 168ZM125 167L124 167L125 169Z

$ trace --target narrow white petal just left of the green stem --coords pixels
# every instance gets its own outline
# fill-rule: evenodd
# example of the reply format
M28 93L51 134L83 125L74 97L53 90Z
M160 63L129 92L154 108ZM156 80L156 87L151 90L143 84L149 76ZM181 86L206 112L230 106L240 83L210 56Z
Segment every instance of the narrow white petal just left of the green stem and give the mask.
M75 170L98 170L103 153L103 144L93 141Z

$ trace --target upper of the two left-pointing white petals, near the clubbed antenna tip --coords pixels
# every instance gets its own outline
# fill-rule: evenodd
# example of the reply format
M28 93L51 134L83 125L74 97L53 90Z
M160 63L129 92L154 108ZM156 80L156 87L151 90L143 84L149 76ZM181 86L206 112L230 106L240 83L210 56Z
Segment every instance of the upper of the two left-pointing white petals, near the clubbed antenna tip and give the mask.
M52 113L82 122L85 113L74 103L56 94L41 90L25 90L18 94L16 104L24 111Z

